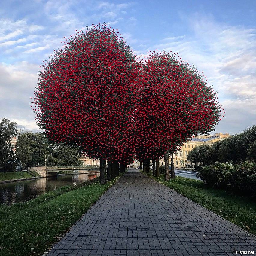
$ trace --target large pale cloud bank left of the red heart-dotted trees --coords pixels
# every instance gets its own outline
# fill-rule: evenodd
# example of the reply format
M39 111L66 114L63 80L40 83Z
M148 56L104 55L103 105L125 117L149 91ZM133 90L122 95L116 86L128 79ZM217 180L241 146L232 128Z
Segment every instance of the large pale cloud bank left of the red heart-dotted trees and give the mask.
M0 117L7 117L27 128L38 128L31 98L38 82L38 65L26 61L0 64Z

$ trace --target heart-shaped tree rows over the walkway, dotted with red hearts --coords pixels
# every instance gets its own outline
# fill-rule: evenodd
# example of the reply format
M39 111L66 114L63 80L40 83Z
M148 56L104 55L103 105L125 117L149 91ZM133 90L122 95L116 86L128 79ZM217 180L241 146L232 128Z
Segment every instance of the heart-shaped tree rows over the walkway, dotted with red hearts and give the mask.
M101 184L106 160L111 179L135 154L147 170L164 155L169 180L169 154L212 131L221 105L203 72L176 53L140 58L118 34L107 24L87 27L43 62L32 101L38 126L53 142L100 159Z

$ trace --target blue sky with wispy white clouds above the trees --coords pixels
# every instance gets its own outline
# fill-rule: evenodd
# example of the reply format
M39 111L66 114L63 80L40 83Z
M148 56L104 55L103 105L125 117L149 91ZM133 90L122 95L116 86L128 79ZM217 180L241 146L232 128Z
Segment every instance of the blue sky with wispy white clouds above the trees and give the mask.
M216 133L256 124L254 0L2 1L0 6L0 118L38 129L30 107L42 61L63 37L109 23L135 54L179 53L203 71L225 109Z

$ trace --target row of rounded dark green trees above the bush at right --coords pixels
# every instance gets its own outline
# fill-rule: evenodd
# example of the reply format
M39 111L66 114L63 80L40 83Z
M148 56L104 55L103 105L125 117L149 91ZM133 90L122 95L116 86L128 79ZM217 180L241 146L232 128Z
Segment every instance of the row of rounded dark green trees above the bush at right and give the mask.
M256 126L221 139L211 146L200 145L189 152L187 159L194 163L203 162L204 165L216 161L239 163L246 159L256 162Z

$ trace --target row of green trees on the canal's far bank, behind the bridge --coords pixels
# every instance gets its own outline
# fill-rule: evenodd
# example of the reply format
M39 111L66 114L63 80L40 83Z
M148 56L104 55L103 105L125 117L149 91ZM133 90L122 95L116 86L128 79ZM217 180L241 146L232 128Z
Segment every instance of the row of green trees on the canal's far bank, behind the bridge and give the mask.
M17 144L12 142L17 137ZM54 143L45 133L23 133L17 135L16 123L3 118L0 123L0 169L15 170L17 165L28 166L81 165L78 160L79 148L63 142Z

